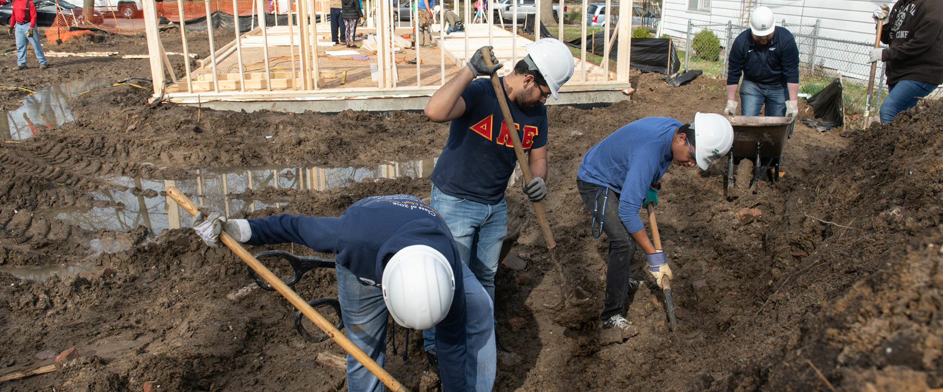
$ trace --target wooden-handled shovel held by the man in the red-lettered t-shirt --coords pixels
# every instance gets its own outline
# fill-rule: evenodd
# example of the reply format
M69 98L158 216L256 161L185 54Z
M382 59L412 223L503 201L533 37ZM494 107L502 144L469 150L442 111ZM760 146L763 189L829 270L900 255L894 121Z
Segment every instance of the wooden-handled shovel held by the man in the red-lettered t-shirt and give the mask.
M488 67L494 65L491 63L491 51L488 48L482 48L482 55L485 57L485 64ZM505 99L505 89L501 86L501 80L498 79L497 74L491 75L491 86L494 87L494 94L498 96L498 104L501 105L501 114L505 117L505 124L514 124L514 118L511 118L511 110L507 107L507 100ZM515 128L513 125L508 125L507 129ZM521 165L521 173L524 176L524 183L530 182L534 178L530 174L530 166L527 165L527 155L524 155L524 149L521 148L521 136L518 135L517 130L512 130L508 132L511 136L511 143L514 143L514 154L518 157L518 164ZM550 223L547 222L547 214L543 211L543 205L539 201L535 201L534 211L537 212L537 219L540 222L540 232L543 233L543 241L547 243L547 250L550 251L550 259L554 263L554 270L560 275L560 298L561 301L556 305L547 305L547 307L555 307L564 301L571 301L575 303L585 303L589 300L589 295L577 287L571 286L570 280L567 279L567 275L563 274L563 265L560 264L560 258L556 255L556 242L554 242L554 233L550 230ZM546 305L546 304L545 304Z

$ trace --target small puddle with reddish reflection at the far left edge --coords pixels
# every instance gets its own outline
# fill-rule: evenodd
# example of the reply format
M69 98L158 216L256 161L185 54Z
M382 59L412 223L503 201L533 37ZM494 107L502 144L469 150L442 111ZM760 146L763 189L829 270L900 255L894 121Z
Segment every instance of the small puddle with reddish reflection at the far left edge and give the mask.
M37 133L56 128L72 121L69 101L95 87L108 86L105 78L93 78L78 82L48 86L23 99L23 106L8 112L0 111L0 137L4 140L22 140Z

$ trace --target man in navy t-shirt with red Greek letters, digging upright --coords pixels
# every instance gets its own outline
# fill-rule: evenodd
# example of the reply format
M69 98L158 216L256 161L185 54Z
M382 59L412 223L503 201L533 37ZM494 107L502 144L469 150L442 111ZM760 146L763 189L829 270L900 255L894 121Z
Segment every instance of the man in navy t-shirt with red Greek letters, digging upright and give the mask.
M544 102L551 95L558 99L560 86L570 80L573 56L557 39L539 39L527 45L527 52L514 71L501 78L501 86L521 148L529 152L534 179L523 184L524 193L537 201L547 196ZM461 259L493 301L494 275L507 234L505 189L517 156L508 133L512 128L505 124L490 80L475 80L502 67L493 52L491 61L495 65L488 67L482 49L478 49L468 65L432 96L425 116L434 122L452 121L445 149L430 176L430 204L442 214L458 243ZM423 337L429 362L435 365L435 330L424 332Z

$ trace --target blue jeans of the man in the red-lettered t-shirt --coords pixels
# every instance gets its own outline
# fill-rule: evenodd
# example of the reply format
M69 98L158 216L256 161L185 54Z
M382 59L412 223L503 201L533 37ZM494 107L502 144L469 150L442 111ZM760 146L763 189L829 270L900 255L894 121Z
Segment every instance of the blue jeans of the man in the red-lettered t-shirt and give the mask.
M498 204L489 205L448 196L433 185L429 205L449 225L458 243L458 254L493 302L494 275L498 273L501 245L507 236L507 203L502 199ZM422 337L423 348L429 351L436 341L436 329L423 331Z

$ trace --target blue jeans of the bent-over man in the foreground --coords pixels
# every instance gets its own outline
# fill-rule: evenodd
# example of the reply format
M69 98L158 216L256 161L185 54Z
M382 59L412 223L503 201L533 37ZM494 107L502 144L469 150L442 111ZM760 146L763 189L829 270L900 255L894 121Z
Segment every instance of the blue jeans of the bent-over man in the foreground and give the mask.
M462 265L465 284L466 341L465 378L468 390L490 392L497 368L494 348L494 307L487 292ZM381 367L387 355L387 319L383 290L360 282L348 269L337 266L338 299L347 337ZM347 390L380 392L384 390L373 373L350 354L347 355Z

